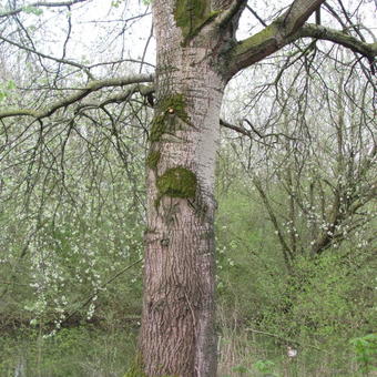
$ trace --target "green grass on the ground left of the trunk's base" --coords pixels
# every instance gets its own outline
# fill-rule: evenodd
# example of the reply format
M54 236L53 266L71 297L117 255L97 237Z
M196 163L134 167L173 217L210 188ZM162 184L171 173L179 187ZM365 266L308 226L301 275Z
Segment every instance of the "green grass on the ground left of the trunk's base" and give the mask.
M65 328L43 337L22 329L1 337L0 376L113 377L123 376L135 348L133 329Z

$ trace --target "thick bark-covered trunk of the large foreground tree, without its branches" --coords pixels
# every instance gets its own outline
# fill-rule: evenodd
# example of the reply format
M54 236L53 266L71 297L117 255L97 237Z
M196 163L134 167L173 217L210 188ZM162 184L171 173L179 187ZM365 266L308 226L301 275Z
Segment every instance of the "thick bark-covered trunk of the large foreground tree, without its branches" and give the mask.
M154 2L156 106L147 156L141 354L147 376L216 375L214 169L225 81L220 39L185 43L174 1Z

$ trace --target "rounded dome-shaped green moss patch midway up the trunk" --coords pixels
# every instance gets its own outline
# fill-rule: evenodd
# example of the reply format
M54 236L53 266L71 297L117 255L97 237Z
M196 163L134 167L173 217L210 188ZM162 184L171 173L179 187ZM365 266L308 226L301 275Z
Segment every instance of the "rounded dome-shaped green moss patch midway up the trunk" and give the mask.
M195 197L197 180L188 169L179 166L169 169L157 177L156 185L160 195L171 197Z

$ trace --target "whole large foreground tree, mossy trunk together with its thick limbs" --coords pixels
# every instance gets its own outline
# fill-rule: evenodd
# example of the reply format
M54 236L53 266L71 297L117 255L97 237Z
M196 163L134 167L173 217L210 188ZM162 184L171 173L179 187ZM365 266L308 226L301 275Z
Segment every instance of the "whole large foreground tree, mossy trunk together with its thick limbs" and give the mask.
M50 6L73 7L84 1ZM154 0L154 75L89 80L85 88L45 109L0 112L1 120L22 115L42 122L102 88L153 82L137 376L216 376L214 183L220 110L227 82L304 38L342 44L374 64L377 44L365 42L360 33L324 27L318 17L317 23L307 22L324 3L293 0L267 24L245 0ZM20 11L14 8L0 16ZM263 29L236 40L245 11L256 16ZM128 95L140 88L132 86Z

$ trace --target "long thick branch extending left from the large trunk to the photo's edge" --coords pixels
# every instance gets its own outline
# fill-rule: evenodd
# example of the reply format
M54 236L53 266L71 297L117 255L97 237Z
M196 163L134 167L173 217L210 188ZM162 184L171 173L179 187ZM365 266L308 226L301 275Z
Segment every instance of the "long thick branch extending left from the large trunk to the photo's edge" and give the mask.
M130 84L136 84L142 82L153 82L154 75L153 74L136 74L130 75L125 78L118 78L118 79L106 79L106 80L98 80L90 82L85 88L79 90L77 93L69 95L61 101L57 101L52 103L48 109L42 111L32 110L32 109L14 109L0 112L0 119L9 118L9 116L18 116L18 115L28 115L33 116L35 119L43 119L47 116L52 115L57 110L67 108L72 103L75 103L86 95L102 89L109 86L123 86Z

